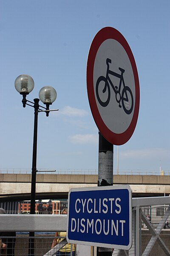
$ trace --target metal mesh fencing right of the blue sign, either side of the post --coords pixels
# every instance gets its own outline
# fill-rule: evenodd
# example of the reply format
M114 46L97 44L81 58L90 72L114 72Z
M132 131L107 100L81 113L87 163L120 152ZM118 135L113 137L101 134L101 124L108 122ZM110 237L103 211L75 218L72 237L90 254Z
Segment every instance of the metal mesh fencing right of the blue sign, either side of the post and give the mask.
M136 226L139 225L137 237ZM132 247L113 250L113 256L170 256L170 207L165 205L140 208L139 223L136 208L132 212Z

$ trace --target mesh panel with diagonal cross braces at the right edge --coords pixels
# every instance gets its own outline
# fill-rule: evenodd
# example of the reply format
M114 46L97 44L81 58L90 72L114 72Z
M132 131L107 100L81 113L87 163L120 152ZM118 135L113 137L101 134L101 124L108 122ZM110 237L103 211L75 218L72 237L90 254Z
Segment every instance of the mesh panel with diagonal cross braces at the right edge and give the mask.
M170 256L170 207L142 208L142 256Z

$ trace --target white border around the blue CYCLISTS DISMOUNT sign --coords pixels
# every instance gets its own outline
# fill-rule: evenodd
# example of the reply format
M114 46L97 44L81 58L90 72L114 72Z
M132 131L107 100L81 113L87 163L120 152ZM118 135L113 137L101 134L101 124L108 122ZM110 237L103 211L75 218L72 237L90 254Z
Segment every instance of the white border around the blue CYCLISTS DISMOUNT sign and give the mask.
M69 222L69 204L70 204L70 194L71 192L80 192L80 191L92 191L92 190L115 190L115 189L127 189L129 191L129 244L128 245L118 245L118 244L105 244L105 243L97 243L97 242L89 242L89 241L77 241L71 240L68 238L68 222ZM72 188L68 192L68 216L67 216L67 235L66 235L68 243L71 244L82 244L82 245L90 245L97 247L106 247L106 248L114 248L114 249L122 249L129 250L132 247L132 190L129 185L113 185L113 186L99 186L99 187L88 187L88 188Z

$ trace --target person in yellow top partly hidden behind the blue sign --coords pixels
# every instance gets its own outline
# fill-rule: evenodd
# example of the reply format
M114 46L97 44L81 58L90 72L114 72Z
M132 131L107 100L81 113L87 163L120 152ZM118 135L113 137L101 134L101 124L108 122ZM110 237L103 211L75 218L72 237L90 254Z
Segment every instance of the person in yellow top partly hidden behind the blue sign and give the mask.
M64 208L61 212L61 214L67 214L68 209ZM66 232L56 232L55 236L65 236L66 237ZM54 246L56 246L59 242L61 242L63 239L59 238L54 238L51 248L53 248ZM72 244L72 256L75 256L75 250L76 250L76 245ZM62 249L58 250L56 253L56 256L70 256L71 255L71 244L66 244L64 247L62 247Z

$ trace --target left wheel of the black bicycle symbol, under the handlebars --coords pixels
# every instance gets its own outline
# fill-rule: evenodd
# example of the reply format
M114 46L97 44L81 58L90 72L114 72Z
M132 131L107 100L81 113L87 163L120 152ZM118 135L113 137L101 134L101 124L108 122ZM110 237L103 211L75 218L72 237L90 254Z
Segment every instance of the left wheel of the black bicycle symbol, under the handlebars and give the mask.
M100 84L100 90L99 90L99 84ZM108 89L108 95L107 95L107 89ZM99 93L99 91L100 91L100 93ZM100 94L100 96L99 96L99 94ZM102 107L106 107L109 104L110 99L111 99L111 89L109 87L108 80L105 78L105 76L99 76L99 78L97 79L96 96L97 96L98 102L100 103L100 105ZM102 99L101 99L101 97L102 97Z

